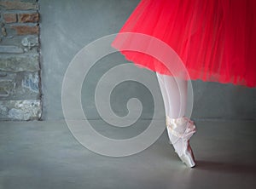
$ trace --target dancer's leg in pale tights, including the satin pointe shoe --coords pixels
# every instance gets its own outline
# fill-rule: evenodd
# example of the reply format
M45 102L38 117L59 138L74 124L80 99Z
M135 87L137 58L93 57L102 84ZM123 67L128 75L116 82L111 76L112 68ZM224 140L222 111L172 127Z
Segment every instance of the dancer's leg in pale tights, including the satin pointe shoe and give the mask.
M195 158L189 146L189 138L195 133L195 125L190 125L189 121L184 117L187 105L188 82L177 77L162 75L158 72L156 72L156 76L165 104L169 139L183 163L186 163L189 167L194 167ZM189 133L186 133L188 128L190 129Z

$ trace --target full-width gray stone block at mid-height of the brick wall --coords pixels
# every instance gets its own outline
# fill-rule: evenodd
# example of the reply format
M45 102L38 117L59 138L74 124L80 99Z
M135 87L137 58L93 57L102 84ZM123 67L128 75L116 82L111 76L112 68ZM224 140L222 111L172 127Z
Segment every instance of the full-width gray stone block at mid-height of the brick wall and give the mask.
M38 54L3 54L0 58L0 70L5 72L35 72L39 70Z

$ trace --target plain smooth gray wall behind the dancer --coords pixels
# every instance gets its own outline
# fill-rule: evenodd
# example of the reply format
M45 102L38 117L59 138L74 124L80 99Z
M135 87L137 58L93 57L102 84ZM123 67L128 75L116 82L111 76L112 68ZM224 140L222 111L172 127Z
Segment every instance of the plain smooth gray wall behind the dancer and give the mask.
M41 45L43 118L62 119L61 83L73 56L86 44L119 31L136 7L138 0L41 0ZM82 103L90 119L99 118L94 104L97 80L113 66L125 62L116 53L99 61L84 80ZM152 72L154 77L154 73ZM143 76L142 76L143 77ZM156 85L156 80L152 80ZM255 119L256 89L232 84L193 81L193 118ZM152 117L152 95L141 84L125 82L113 90L113 110L120 116L127 113L125 101L137 97L143 103L142 118ZM159 112L164 117L164 109Z

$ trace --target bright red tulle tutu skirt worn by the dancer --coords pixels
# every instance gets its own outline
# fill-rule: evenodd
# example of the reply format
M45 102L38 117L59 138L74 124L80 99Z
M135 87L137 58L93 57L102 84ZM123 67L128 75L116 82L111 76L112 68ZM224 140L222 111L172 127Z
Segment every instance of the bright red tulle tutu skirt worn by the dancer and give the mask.
M143 0L119 32L160 39L183 60L191 79L256 86L255 0ZM137 66L176 74L148 54L125 50L132 41L140 43L118 35L112 45Z

